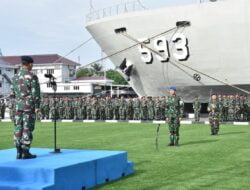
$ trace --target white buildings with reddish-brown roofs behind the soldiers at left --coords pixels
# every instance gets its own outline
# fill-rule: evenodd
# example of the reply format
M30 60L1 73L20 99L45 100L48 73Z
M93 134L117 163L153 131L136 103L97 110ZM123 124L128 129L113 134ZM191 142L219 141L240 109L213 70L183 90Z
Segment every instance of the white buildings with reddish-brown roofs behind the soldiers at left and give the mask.
M92 76L76 78L76 70L80 66L72 60L57 54L30 55L34 59L32 72L39 78L43 95L52 95L53 90L49 79L45 74L52 74L57 82L58 95L111 95L111 96L136 96L127 85L113 85L113 80L105 76ZM21 56L2 56L5 63L4 71L10 72L7 76L11 79L21 64ZM8 64L7 64L8 62ZM3 64L4 65L4 64ZM5 87L1 90L4 95L9 94L9 86L5 81Z

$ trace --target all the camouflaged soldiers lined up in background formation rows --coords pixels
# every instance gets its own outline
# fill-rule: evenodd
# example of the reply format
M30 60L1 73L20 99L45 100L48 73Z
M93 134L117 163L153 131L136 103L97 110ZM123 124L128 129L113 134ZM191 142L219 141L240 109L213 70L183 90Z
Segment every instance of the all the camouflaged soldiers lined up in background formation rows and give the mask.
M218 95L220 121L249 121L250 99L243 95ZM166 97L70 97L56 98L56 115L60 120L165 120ZM52 119L54 99L42 98L37 119ZM13 105L13 104L12 104ZM200 119L201 103L193 103L195 120ZM14 110L14 109L11 109Z

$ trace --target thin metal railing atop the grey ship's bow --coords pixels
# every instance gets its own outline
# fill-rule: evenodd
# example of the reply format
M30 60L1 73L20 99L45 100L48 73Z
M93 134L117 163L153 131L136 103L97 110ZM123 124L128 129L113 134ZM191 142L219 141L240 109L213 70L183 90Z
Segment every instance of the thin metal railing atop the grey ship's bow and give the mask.
M145 9L146 8L142 5L142 3L139 0L121 3L115 6L110 6L99 10L91 10L90 13L86 15L86 22L88 23L105 17L115 16L123 13L135 12Z

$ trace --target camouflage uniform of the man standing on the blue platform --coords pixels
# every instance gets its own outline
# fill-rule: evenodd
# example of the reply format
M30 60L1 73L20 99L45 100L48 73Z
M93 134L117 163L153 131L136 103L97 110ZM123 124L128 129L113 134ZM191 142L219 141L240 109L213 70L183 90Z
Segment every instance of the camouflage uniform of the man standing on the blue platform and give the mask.
M40 85L37 76L21 67L13 78L12 97L15 98L16 108L14 142L16 147L27 152L33 140L35 109L40 107Z

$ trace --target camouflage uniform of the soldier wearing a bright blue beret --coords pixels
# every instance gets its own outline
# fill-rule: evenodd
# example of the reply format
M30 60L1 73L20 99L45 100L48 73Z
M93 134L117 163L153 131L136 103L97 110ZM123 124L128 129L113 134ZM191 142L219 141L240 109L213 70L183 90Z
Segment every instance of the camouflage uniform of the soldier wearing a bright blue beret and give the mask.
M168 120L170 132L170 146L178 145L180 134L180 119L183 115L183 102L180 97L176 95L168 96L166 100L166 118Z

